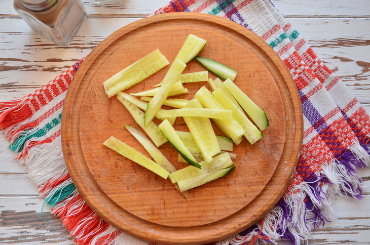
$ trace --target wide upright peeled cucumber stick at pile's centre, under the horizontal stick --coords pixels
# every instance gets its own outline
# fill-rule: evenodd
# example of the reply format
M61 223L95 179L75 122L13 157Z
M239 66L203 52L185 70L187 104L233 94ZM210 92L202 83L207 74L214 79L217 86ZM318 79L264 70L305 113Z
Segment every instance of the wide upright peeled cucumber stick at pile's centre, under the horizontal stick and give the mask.
M189 110L198 110L201 113L204 113L202 111L205 110L197 99L189 101L187 108L189 108ZM209 118L184 116L183 119L187 124L195 144L203 156L203 159L206 162L212 161L212 156L218 154L221 149L218 145L218 141Z

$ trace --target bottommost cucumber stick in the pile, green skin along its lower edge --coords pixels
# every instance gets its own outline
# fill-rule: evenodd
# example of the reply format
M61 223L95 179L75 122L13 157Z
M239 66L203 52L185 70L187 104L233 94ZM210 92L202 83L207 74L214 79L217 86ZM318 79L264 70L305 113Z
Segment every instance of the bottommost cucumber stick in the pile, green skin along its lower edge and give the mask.
M194 187L204 185L205 183L218 179L220 177L224 177L227 174L229 174L233 169L235 169L235 166L227 169L215 170L210 173L205 173L189 179L178 181L177 184L181 192L186 191Z

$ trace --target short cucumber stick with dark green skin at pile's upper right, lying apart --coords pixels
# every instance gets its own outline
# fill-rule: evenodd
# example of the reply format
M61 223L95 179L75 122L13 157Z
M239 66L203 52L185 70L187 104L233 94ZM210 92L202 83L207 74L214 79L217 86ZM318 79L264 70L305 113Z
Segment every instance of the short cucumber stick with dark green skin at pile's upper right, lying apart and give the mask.
M207 68L210 72L212 72L213 74L215 74L216 76L223 80L229 78L233 81L235 79L236 74L238 73L233 68L209 58L197 56L195 57L195 59L199 63L201 63L205 68Z

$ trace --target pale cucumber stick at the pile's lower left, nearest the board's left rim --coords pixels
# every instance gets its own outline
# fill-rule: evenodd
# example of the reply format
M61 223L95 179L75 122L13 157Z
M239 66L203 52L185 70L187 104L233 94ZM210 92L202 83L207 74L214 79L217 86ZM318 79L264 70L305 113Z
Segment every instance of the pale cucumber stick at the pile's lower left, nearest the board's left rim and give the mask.
M145 155L141 154L131 146L123 143L122 141L116 139L113 136L110 136L103 145L106 147L116 151L117 153L127 157L128 159L136 162L137 164L141 165L142 167L149 169L153 173L161 176L164 179L167 179L168 175L170 174L167 170L156 164L156 162L152 161L151 159L147 158Z

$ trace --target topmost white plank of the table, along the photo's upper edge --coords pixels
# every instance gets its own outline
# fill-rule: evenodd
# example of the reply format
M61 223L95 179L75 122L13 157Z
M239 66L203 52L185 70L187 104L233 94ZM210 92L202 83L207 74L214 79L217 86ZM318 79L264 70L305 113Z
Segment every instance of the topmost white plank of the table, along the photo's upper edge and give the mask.
M0 15L17 15L11 1L2 0ZM104 18L114 18L114 15L147 15L169 0L112 1L103 5L95 5L92 1L83 1L86 12L90 16L99 15ZM273 4L286 17L369 17L370 5L367 0L275 0ZM108 16L109 15L109 16Z

